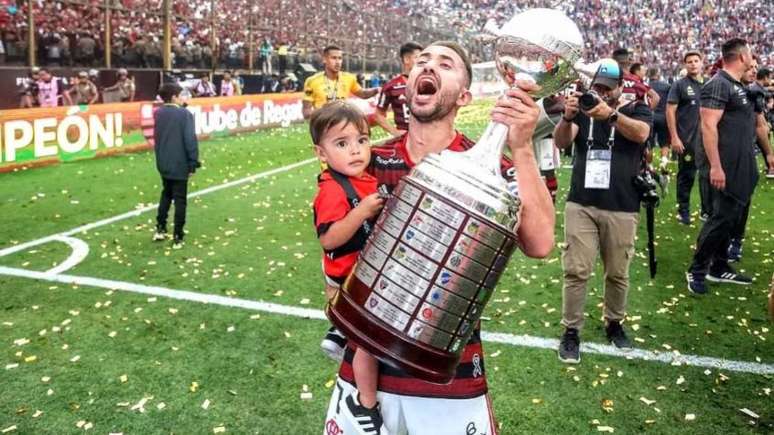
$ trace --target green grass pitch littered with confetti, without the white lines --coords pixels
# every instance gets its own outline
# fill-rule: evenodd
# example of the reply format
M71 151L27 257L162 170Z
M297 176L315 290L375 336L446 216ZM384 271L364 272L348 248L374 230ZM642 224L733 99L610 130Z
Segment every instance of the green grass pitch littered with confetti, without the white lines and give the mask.
M460 129L477 137L488 107L465 110ZM305 126L204 142L204 168L189 191L309 159L308 142ZM318 171L310 162L195 197L181 250L150 241L154 211L74 234L89 252L64 274L321 309L311 216ZM570 171L559 174L557 243ZM0 180L0 249L155 204L160 189L150 153ZM696 298L683 273L698 220L690 228L677 224L673 182L658 210L654 280L643 213L626 321L640 349L747 363L741 371L593 353L567 367L553 350L486 343L501 433L774 430L774 325L766 313L774 183L762 179L755 195L738 265L754 285L713 285ZM43 272L70 253L68 245L48 242L0 257L0 266ZM600 268L590 283L585 343L604 342L601 276ZM557 338L561 289L559 249L544 260L517 255L483 329ZM319 350L326 328L317 319L0 273L0 433L319 434L336 373ZM769 374L753 373L761 368ZM307 390L312 397L302 400Z

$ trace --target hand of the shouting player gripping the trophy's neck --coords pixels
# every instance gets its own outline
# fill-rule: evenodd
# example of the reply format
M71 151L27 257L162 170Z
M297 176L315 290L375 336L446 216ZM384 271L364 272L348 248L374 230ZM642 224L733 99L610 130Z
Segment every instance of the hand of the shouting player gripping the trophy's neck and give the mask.
M508 89L506 98L498 99L492 110L492 121L508 126L508 146L513 154L527 148L532 152L532 135L540 117L540 108L527 93L540 87L529 82L517 82L517 86Z

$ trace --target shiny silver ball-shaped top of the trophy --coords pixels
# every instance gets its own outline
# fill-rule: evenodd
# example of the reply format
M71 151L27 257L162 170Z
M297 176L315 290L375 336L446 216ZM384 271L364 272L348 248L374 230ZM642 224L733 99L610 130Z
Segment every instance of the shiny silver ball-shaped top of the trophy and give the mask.
M583 50L578 26L553 9L530 9L497 31L495 63L509 86L536 83L535 98L553 95L578 78L574 65Z

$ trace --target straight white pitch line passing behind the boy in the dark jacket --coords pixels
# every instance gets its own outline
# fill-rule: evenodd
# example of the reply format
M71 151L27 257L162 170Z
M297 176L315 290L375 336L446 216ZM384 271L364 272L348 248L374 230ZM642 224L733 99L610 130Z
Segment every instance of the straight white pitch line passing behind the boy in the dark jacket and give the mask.
M196 192L189 193L188 197L189 198L195 198L197 196L202 196L202 195L206 195L208 193L217 192L219 190L228 189L230 187L238 186L240 184L251 183L251 182L253 182L255 180L258 180L258 179L261 179L261 178L270 177L272 175L279 174L281 172L286 172L286 171L289 171L291 169L295 169L295 168L307 165L307 164L315 162L315 161L317 161L317 158L311 158L311 159L302 160L300 162L296 162L296 163L293 163L293 164L290 164L290 165L286 165L286 166L282 166L282 167L279 167L279 168L271 169L271 170L268 170L268 171L265 171L265 172L259 172L257 174L251 175L249 177L245 177L245 178L240 178L238 180L229 181L228 183L217 184L215 186L210 186L210 187L208 187L206 189L197 190ZM61 232L61 233L57 233L57 234L53 234L53 235L50 235L50 236L42 237L42 238L36 239L36 240L31 240L31 241L25 242L25 243L20 243L18 245L9 246L9 247L7 247L5 249L0 249L0 257L4 257L6 255L10 255L10 254L14 254L16 252L27 250L27 249L32 248L34 246L38 246L38 245L42 245L44 243L48 243L48 242L51 242L51 241L58 240L58 238L62 237L62 236L67 237L67 236L72 236L74 234L84 233L86 231L93 230L94 228L99 228L99 227L102 227L102 226L105 226L105 225L110 225L110 224L112 224L114 222L118 222L118 221L121 221L121 220L124 220L124 219L133 218L133 217L139 216L139 215L141 215L143 213L149 212L151 210L155 210L156 208L158 208L158 204L156 204L156 205L149 205L149 206L138 208L138 209L135 209L135 210L132 210L132 211L128 211L126 213L122 213L122 214L119 214L119 215L116 215L116 216L113 216L113 217L110 217L110 218L98 220L98 221L92 222L90 224L81 225L79 227L76 227L76 228L73 228L71 230L67 230L67 231Z

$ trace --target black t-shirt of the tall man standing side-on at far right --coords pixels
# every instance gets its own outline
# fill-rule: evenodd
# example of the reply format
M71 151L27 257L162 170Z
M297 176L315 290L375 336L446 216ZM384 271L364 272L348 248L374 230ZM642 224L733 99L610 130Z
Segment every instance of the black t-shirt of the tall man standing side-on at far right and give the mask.
M746 203L758 182L750 146L755 137L755 112L747 89L720 70L702 88L701 107L723 111L718 122L718 153L726 174L725 193Z

